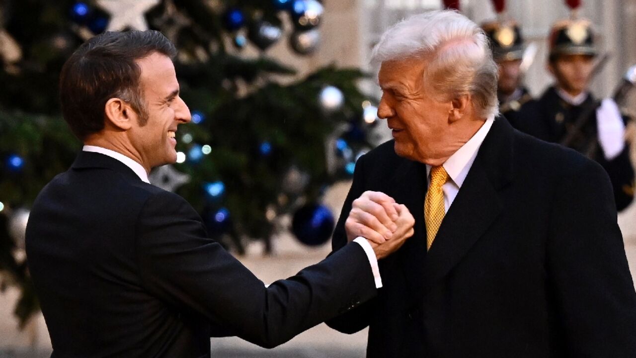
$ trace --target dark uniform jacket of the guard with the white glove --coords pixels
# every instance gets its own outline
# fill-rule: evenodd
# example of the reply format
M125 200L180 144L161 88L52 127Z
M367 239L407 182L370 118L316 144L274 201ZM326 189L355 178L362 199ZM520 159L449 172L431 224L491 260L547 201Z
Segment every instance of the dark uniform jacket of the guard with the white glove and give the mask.
M527 132L539 139L560 143L578 120L584 108L590 106L592 114L586 125L581 129L581 134L572 142L570 148L588 155L600 164L612 183L614 200L619 211L625 209L633 201L634 170L630 160L630 146L626 143L625 149L617 157L608 161L605 159L597 137L596 108L599 102L593 96L588 96L579 106L572 106L556 93L555 87L549 87L537 101L536 118L526 121L525 127L518 127L520 131ZM626 117L623 121L626 121ZM595 143L595 145L590 145Z

